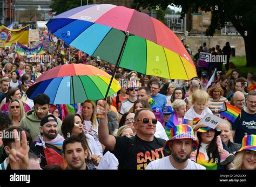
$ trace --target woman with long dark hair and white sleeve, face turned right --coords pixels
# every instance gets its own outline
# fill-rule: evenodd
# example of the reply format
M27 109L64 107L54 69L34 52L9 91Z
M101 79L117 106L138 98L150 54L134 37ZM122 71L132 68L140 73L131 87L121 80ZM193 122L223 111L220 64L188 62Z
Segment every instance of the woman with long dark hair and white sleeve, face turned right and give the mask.
M89 163L92 167L94 167L93 165L98 166L102 154L99 152L95 139L90 134L84 133L83 120L79 114L69 114L64 118L62 122L62 134L64 138L68 138L71 135L79 136L89 150L88 161L91 161Z

